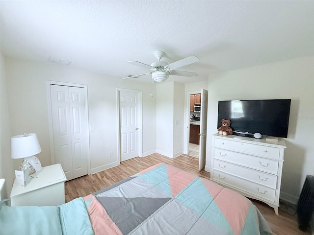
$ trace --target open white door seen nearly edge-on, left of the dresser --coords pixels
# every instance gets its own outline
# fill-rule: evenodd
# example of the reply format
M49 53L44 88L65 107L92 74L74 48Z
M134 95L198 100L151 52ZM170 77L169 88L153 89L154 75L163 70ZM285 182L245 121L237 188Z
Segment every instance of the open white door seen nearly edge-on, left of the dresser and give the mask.
M206 139L207 139L207 105L208 91L201 91L201 123L200 123L200 160L198 168L203 169L206 161Z

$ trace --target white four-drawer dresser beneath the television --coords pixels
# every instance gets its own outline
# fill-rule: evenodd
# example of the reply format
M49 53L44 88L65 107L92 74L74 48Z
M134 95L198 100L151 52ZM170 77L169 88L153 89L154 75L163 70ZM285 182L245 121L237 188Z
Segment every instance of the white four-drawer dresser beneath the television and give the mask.
M234 135L212 136L210 179L249 198L265 202L278 214L286 143Z

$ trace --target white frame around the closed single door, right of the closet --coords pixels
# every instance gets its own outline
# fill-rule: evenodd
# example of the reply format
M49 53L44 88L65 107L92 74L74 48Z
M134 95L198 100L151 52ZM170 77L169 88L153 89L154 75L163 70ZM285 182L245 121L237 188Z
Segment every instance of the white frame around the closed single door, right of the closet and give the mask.
M139 126L139 137L138 137L138 143L137 143L137 147L138 147L138 156L142 157L143 156L143 115L142 115L142 91L139 90L131 90L131 89L125 89L125 88L116 88L116 110L117 110L117 133L118 133L118 151L117 153L119 153L118 155L118 161L119 164L121 163L121 120L120 120L120 92L134 92L137 93L138 95L138 103L139 103L139 117L137 117L137 121L138 121L138 126Z

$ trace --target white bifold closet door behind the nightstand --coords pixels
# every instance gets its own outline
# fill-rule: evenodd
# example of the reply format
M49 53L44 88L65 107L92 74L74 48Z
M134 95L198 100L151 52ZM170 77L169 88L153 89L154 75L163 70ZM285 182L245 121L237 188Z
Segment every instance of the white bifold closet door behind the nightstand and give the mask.
M87 119L84 88L50 85L55 163L67 180L87 174Z

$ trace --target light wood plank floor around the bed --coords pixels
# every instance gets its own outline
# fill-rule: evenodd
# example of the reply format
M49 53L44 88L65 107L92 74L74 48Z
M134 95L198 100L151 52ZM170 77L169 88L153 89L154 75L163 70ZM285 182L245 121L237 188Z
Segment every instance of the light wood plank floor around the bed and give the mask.
M167 158L160 154L152 154L144 158L133 158L122 162L120 165L101 171L93 175L86 175L80 178L65 182L65 199L66 202L77 198L84 197L90 193L110 186L123 180L137 172L146 169L157 163L168 163L183 170L192 172L201 177L210 178L210 173L204 169L198 171L198 159L188 155L181 155L175 159ZM309 235L310 231L304 233L298 229L296 215L290 215L287 212L280 211L276 215L273 208L268 205L252 200L253 204L262 212L267 220L271 230L275 235Z

